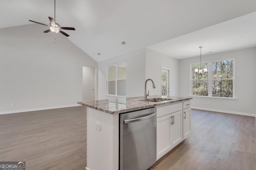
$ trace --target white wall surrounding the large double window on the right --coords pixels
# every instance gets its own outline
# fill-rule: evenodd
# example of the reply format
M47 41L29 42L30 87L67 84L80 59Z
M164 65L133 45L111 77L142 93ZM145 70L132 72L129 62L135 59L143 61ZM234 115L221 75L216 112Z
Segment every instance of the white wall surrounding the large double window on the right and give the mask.
M237 100L220 100L212 98L196 98L192 100L192 107L206 110L224 111L256 115L256 47L240 49L223 53L202 56L204 61L218 61L234 58L235 60L235 98ZM200 57L182 59L179 61L179 95L190 94L190 64L200 62ZM181 69L182 68L182 69ZM210 102L208 105L207 102Z

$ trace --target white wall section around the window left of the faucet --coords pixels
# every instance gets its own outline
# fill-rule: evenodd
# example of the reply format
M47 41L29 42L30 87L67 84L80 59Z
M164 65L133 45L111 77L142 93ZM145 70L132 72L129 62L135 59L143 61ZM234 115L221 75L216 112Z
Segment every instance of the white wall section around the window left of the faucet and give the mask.
M145 48L126 53L98 63L98 98L112 98L107 96L106 66L126 61L126 96L144 95L145 82Z

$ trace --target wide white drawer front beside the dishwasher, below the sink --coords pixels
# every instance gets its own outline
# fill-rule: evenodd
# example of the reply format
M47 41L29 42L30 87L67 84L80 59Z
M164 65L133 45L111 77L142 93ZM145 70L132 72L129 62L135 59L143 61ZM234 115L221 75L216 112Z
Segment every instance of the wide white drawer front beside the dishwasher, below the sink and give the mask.
M161 117L182 110L182 103L171 104L168 106L162 106L156 108L156 117Z

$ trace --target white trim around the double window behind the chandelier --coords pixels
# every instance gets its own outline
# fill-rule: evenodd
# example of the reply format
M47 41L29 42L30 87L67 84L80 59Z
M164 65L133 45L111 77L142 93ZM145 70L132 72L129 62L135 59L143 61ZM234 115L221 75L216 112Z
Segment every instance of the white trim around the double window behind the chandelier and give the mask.
M215 97L212 96L212 63L220 62L220 61L230 61L233 60L233 78L223 78L221 80L233 80L233 97L227 98L227 97ZM229 58L229 59L220 59L220 60L214 60L214 61L208 61L208 62L202 62L202 64L208 63L208 79L202 79L208 81L208 96L193 96L192 95L192 65L200 64L200 63L192 63L190 64L190 96L196 97L196 98L215 98L215 99L224 99L224 100L237 100L235 97L235 59ZM211 68L211 69L209 69Z

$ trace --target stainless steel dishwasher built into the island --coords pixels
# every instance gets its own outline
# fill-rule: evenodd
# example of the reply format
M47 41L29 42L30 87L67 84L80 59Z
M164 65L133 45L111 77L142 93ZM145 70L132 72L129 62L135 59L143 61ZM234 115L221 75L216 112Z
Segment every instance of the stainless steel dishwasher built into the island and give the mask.
M156 108L119 116L119 169L147 170L156 162Z

